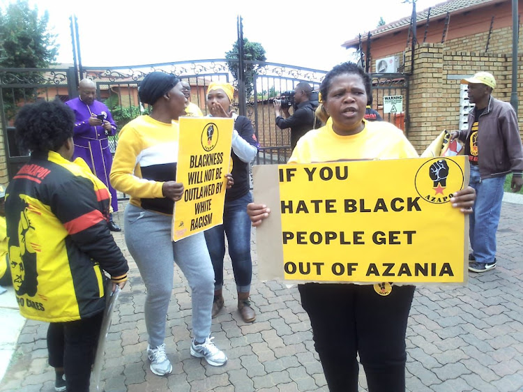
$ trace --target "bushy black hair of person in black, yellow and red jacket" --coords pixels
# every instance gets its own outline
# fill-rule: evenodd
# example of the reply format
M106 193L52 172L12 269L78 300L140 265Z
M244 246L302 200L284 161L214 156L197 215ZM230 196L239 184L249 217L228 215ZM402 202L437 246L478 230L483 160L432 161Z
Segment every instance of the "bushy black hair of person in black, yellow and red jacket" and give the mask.
M59 100L24 105L15 119L15 140L29 151L57 151L75 128L75 114Z

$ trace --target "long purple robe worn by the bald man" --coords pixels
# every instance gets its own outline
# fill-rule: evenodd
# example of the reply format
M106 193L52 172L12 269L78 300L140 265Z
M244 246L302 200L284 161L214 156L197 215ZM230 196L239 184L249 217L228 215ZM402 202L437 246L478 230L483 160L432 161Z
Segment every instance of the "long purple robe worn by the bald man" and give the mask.
M90 126L89 117L93 114L105 114L105 119L111 123L110 135L116 133L116 124L112 119L109 108L95 100L91 105L83 103L79 98L66 102L75 112L75 155L73 158L82 158L91 167L93 173L107 185L111 193L111 206L113 211L118 211L116 190L109 183L109 173L112 166L112 154L107 142L107 135L103 126Z

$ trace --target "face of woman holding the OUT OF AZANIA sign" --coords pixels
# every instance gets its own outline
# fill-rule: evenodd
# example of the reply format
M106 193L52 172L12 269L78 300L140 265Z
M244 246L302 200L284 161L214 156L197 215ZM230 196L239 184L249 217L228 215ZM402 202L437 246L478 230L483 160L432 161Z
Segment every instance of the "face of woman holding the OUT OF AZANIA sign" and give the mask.
M333 130L338 135L356 135L363 128L367 106L365 84L360 75L345 73L331 81L324 107L333 119Z

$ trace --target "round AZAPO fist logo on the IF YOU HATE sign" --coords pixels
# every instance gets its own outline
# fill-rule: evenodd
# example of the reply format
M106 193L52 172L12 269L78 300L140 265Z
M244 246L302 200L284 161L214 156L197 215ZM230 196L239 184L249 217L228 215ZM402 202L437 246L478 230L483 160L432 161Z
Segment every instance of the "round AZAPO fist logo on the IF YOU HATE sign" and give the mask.
M427 202L443 204L450 201L452 192L463 187L463 171L457 163L448 158L427 160L414 179L418 195Z

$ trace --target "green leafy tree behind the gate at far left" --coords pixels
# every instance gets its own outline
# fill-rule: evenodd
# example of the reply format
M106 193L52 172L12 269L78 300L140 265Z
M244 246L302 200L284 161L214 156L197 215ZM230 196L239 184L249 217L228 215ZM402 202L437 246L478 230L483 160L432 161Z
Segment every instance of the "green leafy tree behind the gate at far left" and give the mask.
M27 0L10 3L0 9L0 68L46 68L56 59L56 35L47 28L47 11L38 16L38 8L31 9ZM3 75L2 75L3 74ZM40 73L0 73L7 83L40 82ZM17 103L36 98L35 88L3 89L4 110L11 118Z

